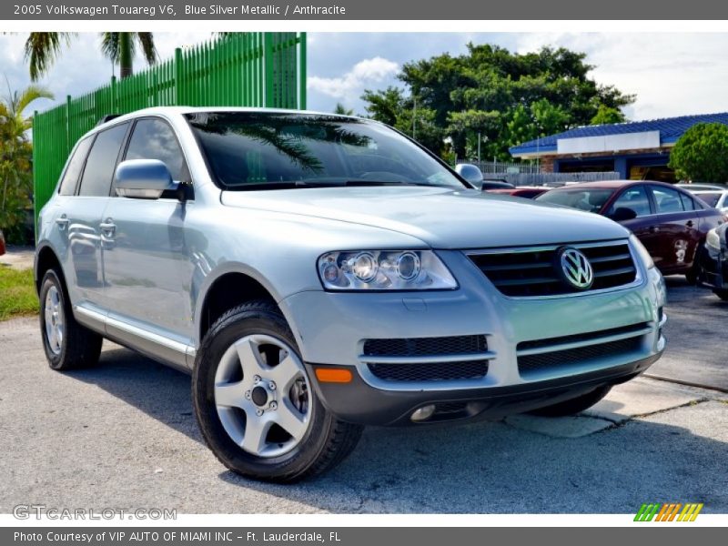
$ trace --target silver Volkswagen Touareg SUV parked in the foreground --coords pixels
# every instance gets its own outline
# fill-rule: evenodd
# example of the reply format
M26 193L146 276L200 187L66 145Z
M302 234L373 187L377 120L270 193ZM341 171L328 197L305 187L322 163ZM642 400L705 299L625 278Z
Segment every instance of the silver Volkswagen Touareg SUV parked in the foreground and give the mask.
M364 425L575 413L665 346L662 277L626 229L483 194L356 117L116 117L38 234L51 368L106 338L191 373L207 445L262 480L330 469Z

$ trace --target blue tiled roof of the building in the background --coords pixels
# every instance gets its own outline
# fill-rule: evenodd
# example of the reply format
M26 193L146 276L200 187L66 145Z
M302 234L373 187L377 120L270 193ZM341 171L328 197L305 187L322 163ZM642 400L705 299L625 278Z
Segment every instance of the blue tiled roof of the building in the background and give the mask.
M510 148L512 156L526 154L555 152L557 141L567 138L583 138L586 136L612 136L629 133L643 133L646 131L659 131L662 146L674 144L682 133L698 123L723 123L728 125L728 112L720 114L700 114L696 116L662 117L645 121L630 121L627 123L612 123L599 126L581 126L556 135L543 136L536 140L524 142Z

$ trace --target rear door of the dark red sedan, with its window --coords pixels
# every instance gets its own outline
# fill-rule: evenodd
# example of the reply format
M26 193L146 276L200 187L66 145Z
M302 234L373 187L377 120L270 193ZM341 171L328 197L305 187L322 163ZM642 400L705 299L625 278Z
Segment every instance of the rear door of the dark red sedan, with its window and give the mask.
M660 259L655 264L662 273L682 273L693 265L700 243L699 220L691 197L666 186L649 185L656 212L654 227L659 231Z

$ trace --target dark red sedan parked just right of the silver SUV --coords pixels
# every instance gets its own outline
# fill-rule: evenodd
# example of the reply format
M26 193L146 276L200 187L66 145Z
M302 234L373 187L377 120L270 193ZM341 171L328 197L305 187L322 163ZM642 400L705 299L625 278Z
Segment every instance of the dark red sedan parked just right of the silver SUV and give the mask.
M557 187L536 197L541 203L581 208L632 230L662 274L697 279L695 260L705 236L725 217L681 187L649 180L611 180Z

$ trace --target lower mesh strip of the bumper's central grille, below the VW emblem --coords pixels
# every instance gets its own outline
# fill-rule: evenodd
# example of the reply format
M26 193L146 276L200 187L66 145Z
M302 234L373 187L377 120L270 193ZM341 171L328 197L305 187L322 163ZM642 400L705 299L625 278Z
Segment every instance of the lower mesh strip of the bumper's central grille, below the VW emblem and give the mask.
M569 368L577 364L588 363L590 360L603 357L620 357L642 349L642 336L634 338L595 343L576 349L554 350L535 355L518 357L518 369L521 375L550 369Z

